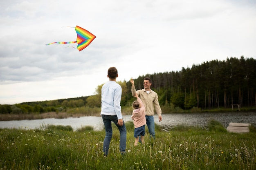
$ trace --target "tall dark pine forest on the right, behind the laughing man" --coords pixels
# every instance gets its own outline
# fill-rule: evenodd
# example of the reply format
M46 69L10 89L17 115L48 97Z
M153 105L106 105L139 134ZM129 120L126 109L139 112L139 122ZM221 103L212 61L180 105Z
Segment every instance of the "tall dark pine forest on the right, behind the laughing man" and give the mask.
M143 78L150 77L162 105L174 104L183 109L256 106L256 60L227 58L182 68L179 72L155 73L139 77L137 89L143 88ZM137 83L137 84L136 84Z

